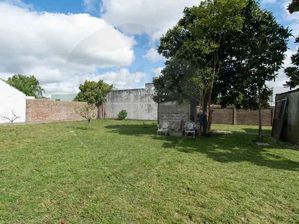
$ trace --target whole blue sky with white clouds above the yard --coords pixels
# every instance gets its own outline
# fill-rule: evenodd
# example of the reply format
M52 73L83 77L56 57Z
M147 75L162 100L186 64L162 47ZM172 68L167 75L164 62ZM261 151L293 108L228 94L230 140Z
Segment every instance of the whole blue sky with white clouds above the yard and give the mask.
M291 0L263 0L277 22L299 34ZM198 0L0 0L0 78L34 75L51 94L77 93L85 79L104 79L119 89L142 88L164 67L159 37ZM295 53L289 41L286 66ZM68 63L66 63L68 62ZM281 70L275 83L286 77Z

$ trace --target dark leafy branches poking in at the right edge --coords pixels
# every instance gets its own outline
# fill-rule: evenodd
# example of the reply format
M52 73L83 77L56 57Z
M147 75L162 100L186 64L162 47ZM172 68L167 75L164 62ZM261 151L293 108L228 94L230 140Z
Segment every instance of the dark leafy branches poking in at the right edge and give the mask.
M289 13L295 13L299 11L299 1L293 0L287 8ZM295 39L295 43L299 43L299 37ZM286 82L284 86L289 87L290 89L299 86L299 49L296 54L293 54L291 57L293 67L287 67L284 70L284 73L289 78L289 81Z

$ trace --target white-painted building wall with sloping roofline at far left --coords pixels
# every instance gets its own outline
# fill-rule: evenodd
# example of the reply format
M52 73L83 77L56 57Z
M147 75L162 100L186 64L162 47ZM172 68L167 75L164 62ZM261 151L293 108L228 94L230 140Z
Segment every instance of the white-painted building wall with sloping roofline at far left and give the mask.
M20 116L14 122L25 122L26 95L0 79L0 115L6 112L12 117L11 110ZM0 119L0 123L7 122L9 120Z

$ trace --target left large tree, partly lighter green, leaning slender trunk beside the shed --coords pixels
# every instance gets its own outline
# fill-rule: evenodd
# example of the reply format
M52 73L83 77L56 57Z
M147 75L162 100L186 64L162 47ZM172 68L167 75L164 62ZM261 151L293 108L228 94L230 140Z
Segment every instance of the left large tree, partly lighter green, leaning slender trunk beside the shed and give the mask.
M187 97L202 102L203 97L208 105L209 132L219 53L224 40L241 31L244 7L245 0L206 0L184 9L184 17L160 39L158 53L168 60L162 76L153 80L154 101ZM196 94L198 91L203 94Z

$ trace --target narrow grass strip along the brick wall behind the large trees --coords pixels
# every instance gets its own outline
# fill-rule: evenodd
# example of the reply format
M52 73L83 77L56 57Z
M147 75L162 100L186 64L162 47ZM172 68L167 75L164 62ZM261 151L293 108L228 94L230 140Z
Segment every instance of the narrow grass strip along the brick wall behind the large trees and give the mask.
M238 131L238 132L250 132L250 133L259 133L259 126L258 125L217 125L212 124L212 130L218 131ZM262 134L271 135L272 127L263 126L262 127Z

